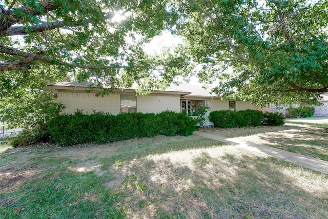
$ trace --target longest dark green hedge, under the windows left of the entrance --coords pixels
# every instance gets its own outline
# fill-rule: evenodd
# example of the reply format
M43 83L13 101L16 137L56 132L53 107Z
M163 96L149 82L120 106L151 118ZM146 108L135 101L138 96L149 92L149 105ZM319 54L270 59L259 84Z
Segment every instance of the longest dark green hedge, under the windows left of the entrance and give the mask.
M63 114L48 123L52 140L59 146L86 143L111 143L135 137L153 137L158 134L191 135L197 120L186 113L164 111L154 113L126 113L111 115L96 112Z

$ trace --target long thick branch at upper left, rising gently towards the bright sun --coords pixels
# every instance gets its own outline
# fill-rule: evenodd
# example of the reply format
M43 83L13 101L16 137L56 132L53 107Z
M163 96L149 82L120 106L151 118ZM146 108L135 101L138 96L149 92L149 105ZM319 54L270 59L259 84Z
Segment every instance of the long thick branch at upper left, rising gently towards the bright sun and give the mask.
M113 18L113 14L109 14L103 17L103 19L110 19ZM92 23L92 18L87 18L82 21L77 22L64 22L64 21L55 21L55 22L44 22L40 25L32 25L30 29L33 33L39 33L46 30L53 30L56 28L63 28L63 27L77 27L81 24L89 24ZM25 35L27 34L26 27L10 27L2 32L0 32L0 36L15 36L15 35Z

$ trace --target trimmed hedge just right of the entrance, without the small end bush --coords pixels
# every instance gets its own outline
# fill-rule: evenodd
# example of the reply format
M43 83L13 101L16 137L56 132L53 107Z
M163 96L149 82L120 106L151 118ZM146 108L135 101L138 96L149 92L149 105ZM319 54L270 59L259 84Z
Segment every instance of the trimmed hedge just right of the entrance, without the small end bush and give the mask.
M209 120L218 128L236 128L260 126L262 121L262 112L258 110L219 110L212 111Z

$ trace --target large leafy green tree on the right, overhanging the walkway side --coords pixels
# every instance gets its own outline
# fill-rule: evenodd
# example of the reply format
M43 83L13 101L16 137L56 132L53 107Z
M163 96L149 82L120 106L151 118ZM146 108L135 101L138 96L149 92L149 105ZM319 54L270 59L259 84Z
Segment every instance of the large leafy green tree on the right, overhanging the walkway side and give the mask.
M179 34L223 97L317 104L328 88L328 1L179 0Z

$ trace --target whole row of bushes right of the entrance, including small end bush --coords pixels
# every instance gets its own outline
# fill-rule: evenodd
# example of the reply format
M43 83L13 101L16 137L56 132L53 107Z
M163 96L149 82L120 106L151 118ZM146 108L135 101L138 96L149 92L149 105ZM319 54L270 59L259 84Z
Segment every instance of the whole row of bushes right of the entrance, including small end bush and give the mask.
M252 127L263 125L282 125L284 116L281 113L262 113L258 110L219 110L212 111L209 120L218 128Z

